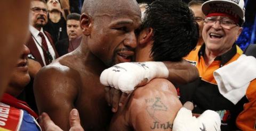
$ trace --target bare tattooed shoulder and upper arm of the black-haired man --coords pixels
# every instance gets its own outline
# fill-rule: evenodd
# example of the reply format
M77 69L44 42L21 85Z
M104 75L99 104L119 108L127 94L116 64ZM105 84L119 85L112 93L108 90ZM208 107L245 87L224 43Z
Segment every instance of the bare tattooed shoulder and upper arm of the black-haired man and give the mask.
M110 130L172 130L173 120L182 107L174 85L155 78L136 89L119 107Z

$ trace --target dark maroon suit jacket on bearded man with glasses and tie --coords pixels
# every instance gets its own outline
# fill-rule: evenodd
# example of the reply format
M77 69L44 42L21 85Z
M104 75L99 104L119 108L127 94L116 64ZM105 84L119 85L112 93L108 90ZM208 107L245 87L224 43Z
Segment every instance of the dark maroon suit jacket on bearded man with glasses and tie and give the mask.
M50 43L51 43L51 45L53 47L53 50L55 52L56 58L58 58L59 55L58 55L58 53L57 53L57 51L55 49L55 46L54 46L54 43L52 41L51 35L48 32L46 32L46 31L44 31L44 33L45 33L47 39L50 41ZM39 53L39 50L37 49L36 44L37 43L35 43L33 37L30 34L29 40L28 40L26 45L27 45L27 47L30 50L30 54L33 55L36 58L37 62L39 62L41 64L41 66L43 67L44 66L44 62L43 62L42 56Z

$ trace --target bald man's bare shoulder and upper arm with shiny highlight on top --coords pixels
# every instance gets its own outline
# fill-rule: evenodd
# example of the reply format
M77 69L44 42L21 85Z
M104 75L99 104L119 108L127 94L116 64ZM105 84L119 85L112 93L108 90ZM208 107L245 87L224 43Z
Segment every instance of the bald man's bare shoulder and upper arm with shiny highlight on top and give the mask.
M34 81L34 93L39 113L46 112L56 125L69 129L69 112L78 93L77 78L68 67L46 66Z

